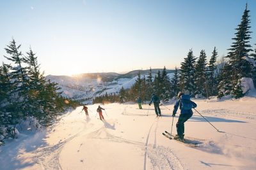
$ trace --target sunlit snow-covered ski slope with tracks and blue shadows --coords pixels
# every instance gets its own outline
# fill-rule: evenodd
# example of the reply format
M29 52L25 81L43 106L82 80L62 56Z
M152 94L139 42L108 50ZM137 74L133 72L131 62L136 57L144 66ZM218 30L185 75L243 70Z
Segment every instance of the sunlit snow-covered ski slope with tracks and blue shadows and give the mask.
M20 139L7 141L0 147L0 169L255 169L256 98L194 101L222 131L194 111L185 138L197 141L196 147L162 135L171 131L173 104L161 106L160 118L154 106L107 104L106 122L95 117L92 105L90 118L79 107L45 131L20 132Z

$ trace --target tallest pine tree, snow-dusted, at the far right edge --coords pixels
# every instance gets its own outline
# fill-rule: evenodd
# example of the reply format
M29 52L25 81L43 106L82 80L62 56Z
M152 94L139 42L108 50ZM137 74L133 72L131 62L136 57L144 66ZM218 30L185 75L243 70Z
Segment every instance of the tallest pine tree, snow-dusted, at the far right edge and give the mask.
M248 55L248 52L252 51L251 45L249 44L249 39L251 31L250 29L250 10L246 8L244 10L241 23L236 28L236 37L232 38L234 43L232 43L231 48L228 49L228 64L231 66L232 74L228 77L232 81L232 89L230 89L231 94L234 97L243 96L243 91L240 88L241 78L248 77L252 78L252 65L250 62L244 59L244 56Z

